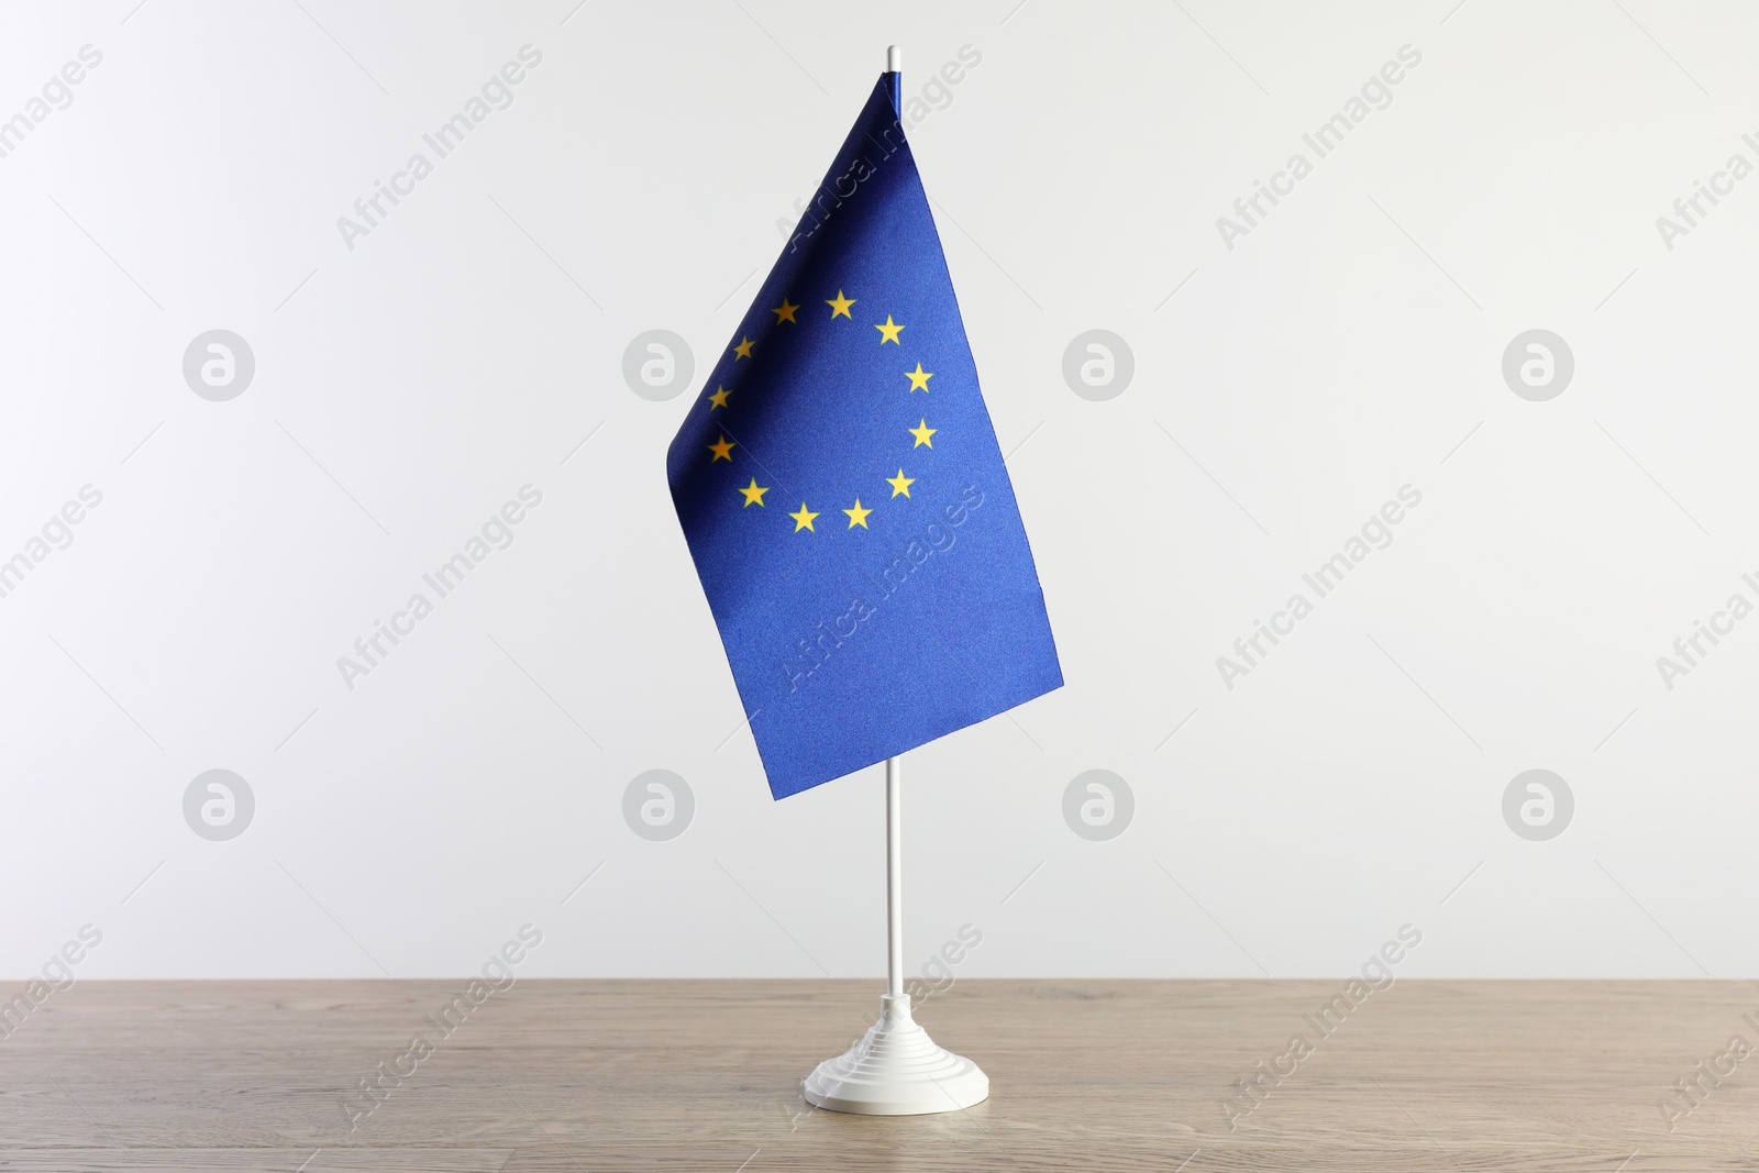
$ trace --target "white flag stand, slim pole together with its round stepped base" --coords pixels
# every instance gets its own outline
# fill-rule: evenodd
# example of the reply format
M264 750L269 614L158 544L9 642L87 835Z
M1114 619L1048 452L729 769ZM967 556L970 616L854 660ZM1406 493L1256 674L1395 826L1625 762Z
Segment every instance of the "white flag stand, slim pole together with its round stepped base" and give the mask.
M888 55L897 70L897 47ZM989 1076L964 1055L934 1045L904 994L904 851L899 841L899 760L885 761L887 992L862 1041L806 1076L806 1103L869 1117L957 1111L989 1099Z

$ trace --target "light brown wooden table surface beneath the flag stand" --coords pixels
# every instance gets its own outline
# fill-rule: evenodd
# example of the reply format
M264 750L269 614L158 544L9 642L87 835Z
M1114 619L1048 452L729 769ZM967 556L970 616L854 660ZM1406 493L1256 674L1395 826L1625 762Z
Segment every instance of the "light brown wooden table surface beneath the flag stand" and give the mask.
M0 1039L0 1168L1759 1169L1759 983L1402 980L1325 1036L1342 988L960 980L918 1018L989 1103L874 1118L799 1090L874 981L521 980L450 1034L463 981L83 981Z

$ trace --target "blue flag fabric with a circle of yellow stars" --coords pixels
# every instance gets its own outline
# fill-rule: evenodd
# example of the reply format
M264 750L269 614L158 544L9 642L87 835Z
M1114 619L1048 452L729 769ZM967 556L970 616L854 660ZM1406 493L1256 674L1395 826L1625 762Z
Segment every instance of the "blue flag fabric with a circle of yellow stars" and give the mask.
M776 798L1062 684L883 74L667 478Z

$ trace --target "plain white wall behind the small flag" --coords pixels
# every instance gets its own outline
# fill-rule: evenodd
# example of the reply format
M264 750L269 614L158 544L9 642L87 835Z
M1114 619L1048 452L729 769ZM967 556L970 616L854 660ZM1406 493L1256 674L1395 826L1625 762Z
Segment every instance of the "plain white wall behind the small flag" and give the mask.
M1655 223L1759 164L1759 14L134 4L0 14L0 118L102 53L0 158L0 557L102 492L0 600L9 980L86 923L81 974L218 978L464 973L528 922L528 974L878 978L880 772L770 802L665 491L688 397L623 353L667 329L707 368L888 42L916 95L982 53L911 137L1068 677L909 754L909 955L971 923L960 974L1342 974L1409 922L1407 974L1759 964L1759 619L1655 663L1759 601L1759 179ZM229 401L183 375L209 329L255 357ZM1062 375L1089 329L1133 353L1108 401ZM1548 401L1502 375L1530 329L1574 357ZM1305 587L1404 485L1391 545ZM185 821L211 769L255 798L230 841ZM665 842L623 816L651 769L695 797ZM1091 769L1135 797L1110 841L1064 821ZM1555 839L1504 821L1529 769L1574 797Z

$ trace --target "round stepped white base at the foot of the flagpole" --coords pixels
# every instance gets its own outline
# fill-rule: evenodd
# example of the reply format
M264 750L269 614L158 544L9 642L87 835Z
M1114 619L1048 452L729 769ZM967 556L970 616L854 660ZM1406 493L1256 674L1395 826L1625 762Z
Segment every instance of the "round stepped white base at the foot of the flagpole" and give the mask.
M909 995L880 997L880 1022L860 1043L806 1076L806 1103L867 1117L957 1111L989 1099L989 1076L941 1050L909 1015Z

